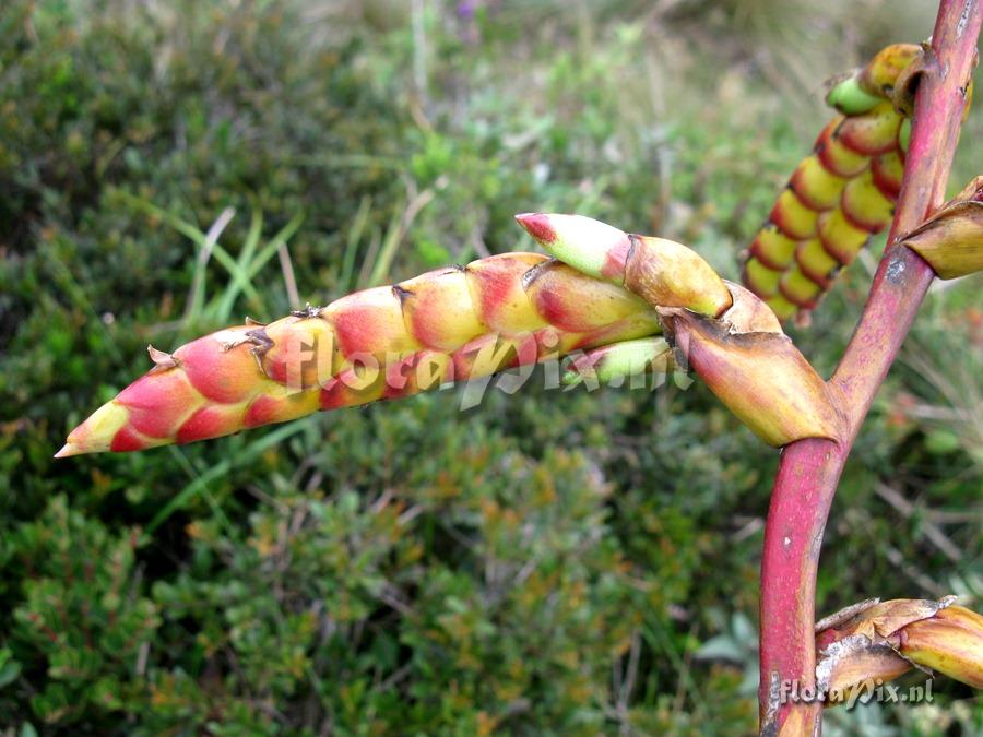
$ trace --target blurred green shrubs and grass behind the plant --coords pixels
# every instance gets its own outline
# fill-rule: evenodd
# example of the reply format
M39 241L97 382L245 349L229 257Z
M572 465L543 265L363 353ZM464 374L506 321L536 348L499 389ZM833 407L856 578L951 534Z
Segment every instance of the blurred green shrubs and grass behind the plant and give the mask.
M533 381L466 413L441 392L51 454L147 343L533 249L516 212L673 237L735 277L829 116L824 81L933 19L887 0L4 0L0 734L751 733L777 453L699 383ZM793 331L824 372L880 245ZM983 605L981 287L933 289L878 396L821 613ZM934 693L830 712L827 734L983 733L969 688Z

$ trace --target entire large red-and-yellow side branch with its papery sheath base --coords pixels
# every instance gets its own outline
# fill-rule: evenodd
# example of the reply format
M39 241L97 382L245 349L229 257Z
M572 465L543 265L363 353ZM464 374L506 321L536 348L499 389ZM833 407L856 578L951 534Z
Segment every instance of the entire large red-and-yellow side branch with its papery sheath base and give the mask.
M663 332L767 442L838 437L825 382L771 310L695 251L577 215L518 219L559 260L505 253L227 328L173 354L151 348L154 368L58 455L216 438L601 346L571 368L666 367L664 341L637 342Z

